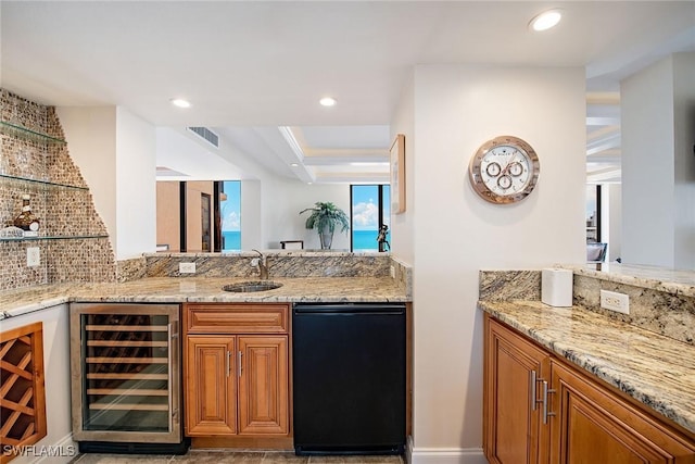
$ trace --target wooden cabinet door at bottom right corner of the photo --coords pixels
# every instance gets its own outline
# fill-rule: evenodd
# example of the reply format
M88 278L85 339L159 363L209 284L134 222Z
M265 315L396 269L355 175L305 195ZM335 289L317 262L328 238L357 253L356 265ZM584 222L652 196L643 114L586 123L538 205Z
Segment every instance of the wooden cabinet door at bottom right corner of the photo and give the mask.
M629 401L552 362L551 462L694 463L695 443Z

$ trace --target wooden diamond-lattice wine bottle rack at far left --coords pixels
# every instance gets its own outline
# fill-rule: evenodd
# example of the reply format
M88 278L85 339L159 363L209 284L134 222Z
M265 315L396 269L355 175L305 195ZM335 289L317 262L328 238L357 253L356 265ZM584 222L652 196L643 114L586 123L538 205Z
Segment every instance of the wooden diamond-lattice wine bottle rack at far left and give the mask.
M0 334L0 463L47 434L43 375L42 323Z

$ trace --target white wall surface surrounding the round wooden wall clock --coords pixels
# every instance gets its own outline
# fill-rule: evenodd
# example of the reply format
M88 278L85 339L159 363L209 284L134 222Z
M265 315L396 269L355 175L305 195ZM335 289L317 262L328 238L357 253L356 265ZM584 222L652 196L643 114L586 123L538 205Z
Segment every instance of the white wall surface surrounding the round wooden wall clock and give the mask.
M412 108L412 125L396 120L416 174L403 220L417 256L413 462L484 463L478 273L584 261L584 71L417 66ZM498 135L540 158L539 184L518 204L488 203L468 180L470 158Z

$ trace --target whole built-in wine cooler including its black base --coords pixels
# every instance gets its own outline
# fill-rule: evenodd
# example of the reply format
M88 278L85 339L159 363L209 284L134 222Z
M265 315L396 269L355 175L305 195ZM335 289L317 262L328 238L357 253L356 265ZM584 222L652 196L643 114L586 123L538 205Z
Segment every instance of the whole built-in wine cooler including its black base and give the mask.
M186 452L178 304L73 303L71 371L80 451Z

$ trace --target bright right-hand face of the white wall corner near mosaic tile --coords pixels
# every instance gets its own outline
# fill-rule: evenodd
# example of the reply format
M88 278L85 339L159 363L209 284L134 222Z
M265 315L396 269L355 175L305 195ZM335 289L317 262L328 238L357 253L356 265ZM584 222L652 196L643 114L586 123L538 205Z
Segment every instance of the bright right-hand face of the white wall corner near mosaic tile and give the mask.
M116 259L154 252L156 243L154 126L116 109Z

